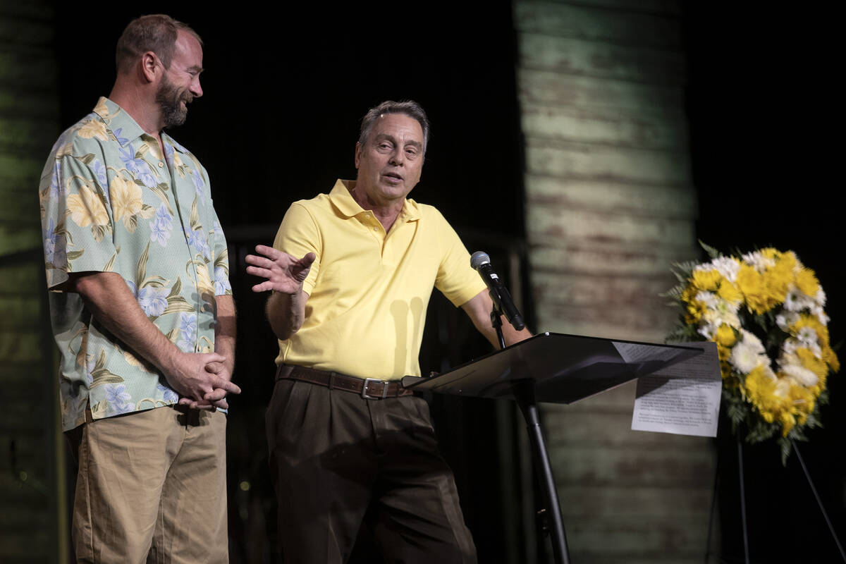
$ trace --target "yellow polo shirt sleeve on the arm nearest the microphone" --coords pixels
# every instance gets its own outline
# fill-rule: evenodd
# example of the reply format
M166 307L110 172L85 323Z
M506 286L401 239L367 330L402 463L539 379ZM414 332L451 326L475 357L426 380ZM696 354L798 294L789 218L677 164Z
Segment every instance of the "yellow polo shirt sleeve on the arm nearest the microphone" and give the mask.
M461 242L458 233L439 211L433 221L438 222L438 242L442 258L437 269L435 287L456 307L466 304L470 298L485 289L479 273L470 266L470 253Z

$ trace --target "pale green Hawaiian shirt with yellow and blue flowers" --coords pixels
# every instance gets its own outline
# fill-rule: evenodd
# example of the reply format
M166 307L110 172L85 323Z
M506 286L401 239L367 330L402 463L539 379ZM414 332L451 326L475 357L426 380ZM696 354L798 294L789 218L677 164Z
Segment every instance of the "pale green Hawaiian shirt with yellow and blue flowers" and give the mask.
M41 175L41 227L63 429L178 401L164 376L92 319L70 272L117 272L140 308L185 352L214 350L215 296L231 294L226 239L206 169L157 140L113 101L65 131Z

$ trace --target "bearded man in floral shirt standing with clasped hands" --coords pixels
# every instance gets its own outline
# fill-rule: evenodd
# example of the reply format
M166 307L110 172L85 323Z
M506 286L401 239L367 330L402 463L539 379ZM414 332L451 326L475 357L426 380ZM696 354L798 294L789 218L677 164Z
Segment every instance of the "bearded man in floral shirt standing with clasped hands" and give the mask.
M235 320L206 170L163 129L202 96L200 37L165 15L118 40L108 98L41 177L80 561L225 562ZM122 416L122 417L117 417Z

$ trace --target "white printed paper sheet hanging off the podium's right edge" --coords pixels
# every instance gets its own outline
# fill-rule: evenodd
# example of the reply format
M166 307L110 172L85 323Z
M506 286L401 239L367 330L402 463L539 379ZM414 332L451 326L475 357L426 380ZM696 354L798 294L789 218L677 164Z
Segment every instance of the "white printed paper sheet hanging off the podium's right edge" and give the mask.
M717 343L678 343L702 354L637 381L632 430L717 436L722 377Z

